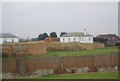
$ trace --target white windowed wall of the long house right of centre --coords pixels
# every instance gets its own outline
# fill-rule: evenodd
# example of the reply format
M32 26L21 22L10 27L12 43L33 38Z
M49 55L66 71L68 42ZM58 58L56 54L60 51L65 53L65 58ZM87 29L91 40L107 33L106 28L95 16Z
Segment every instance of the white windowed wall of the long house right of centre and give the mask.
M60 37L60 42L93 43L93 37Z

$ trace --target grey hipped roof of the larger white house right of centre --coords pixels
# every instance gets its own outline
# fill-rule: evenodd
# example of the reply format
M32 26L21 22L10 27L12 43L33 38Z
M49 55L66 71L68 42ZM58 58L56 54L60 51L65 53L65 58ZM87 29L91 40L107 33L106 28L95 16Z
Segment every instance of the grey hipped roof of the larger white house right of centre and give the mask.
M83 33L83 32L71 32L71 33L66 33L66 34L62 35L61 37L80 37L80 36L89 37L89 36L92 36L92 35L90 35L88 33L86 33L86 35L85 35L85 33Z

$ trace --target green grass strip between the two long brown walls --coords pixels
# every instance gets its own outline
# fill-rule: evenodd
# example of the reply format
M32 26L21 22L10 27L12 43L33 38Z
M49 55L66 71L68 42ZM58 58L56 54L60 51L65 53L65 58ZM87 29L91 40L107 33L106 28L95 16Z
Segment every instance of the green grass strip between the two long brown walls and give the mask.
M107 55L118 54L118 47L107 47L104 49L95 49L92 51L49 51L45 55L39 55L34 57L64 57L64 56L89 56L89 55ZM28 56L33 57L33 56Z

